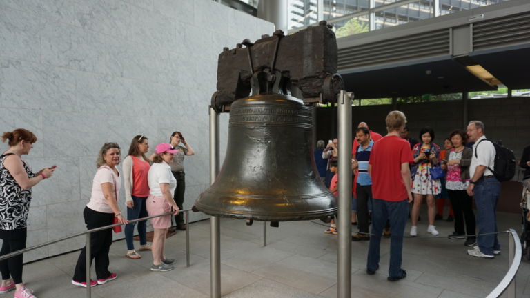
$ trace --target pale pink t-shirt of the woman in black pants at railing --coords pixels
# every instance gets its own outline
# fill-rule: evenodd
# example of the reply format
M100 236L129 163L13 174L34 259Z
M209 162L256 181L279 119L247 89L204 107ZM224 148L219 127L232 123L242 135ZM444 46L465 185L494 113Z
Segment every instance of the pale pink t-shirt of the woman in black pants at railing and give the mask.
M118 169L116 168L116 170ZM92 180L92 193L90 195L90 201L88 204L86 204L86 206L98 212L114 213L112 208L108 206L107 200L103 195L103 190L101 188L101 184L103 183L111 183L113 185L113 191L115 191L116 197L119 198L119 188L121 188L119 171L118 174L116 174L108 166L101 166L97 169L94 180Z

